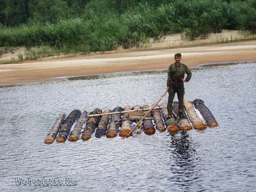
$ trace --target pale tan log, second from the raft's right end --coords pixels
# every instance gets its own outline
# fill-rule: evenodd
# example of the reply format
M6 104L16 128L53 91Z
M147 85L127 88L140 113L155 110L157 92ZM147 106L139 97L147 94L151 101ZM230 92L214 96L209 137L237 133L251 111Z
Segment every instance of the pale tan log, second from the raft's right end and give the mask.
M189 120L195 129L205 129L207 127L207 124L205 124L205 122L203 122L196 114L193 103L190 100L184 99L184 107L186 108Z

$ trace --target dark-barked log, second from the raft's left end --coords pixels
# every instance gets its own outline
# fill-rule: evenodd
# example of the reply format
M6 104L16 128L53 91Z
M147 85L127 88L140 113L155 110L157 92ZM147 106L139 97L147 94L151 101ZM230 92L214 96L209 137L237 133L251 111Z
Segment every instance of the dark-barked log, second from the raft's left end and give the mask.
M56 141L58 143L63 143L67 140L68 134L70 133L70 129L74 122L81 116L81 111L74 109L71 111L71 113L65 118L63 121L63 124L60 127L60 132L58 134L58 137Z

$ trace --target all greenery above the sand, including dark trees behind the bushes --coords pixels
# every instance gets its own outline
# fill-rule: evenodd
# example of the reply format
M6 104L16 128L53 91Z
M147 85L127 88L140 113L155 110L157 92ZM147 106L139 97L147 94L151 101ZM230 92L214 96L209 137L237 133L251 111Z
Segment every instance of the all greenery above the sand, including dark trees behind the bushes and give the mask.
M0 55L25 46L19 60L104 52L184 33L188 40L221 29L256 31L256 0L0 0ZM16 17L18 15L19 17ZM32 51L31 47L41 47Z

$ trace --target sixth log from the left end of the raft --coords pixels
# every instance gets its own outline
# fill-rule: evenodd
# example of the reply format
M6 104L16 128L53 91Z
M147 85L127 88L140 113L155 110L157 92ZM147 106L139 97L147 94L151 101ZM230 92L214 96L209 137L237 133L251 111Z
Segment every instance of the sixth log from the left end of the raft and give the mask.
M123 108L116 107L113 109L113 112L120 112L123 111ZM116 134L119 131L119 127L121 126L122 122L121 120L122 114L113 114L110 116L109 126L108 126L108 132L106 134L107 138L114 138Z

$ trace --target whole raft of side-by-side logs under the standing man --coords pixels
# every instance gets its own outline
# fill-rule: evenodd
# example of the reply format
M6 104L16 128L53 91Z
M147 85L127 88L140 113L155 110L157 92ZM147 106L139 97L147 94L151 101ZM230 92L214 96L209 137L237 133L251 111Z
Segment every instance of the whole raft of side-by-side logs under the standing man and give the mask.
M141 121L140 129L134 130L136 134L141 133L142 128L145 134L154 134L156 129L159 130L159 132L163 132L166 128L168 132L189 130L192 127L191 124L195 129L204 129L207 127L207 125L209 125L209 127L218 125L215 118L212 116L211 111L204 105L202 100L197 99L192 103L188 99L184 99L184 107L187 112L184 113L184 115L187 115L188 118L177 119L175 116L172 116L172 118L167 120L166 117L168 112L166 106L166 103L163 103L160 107L157 106L150 111L151 116L148 116ZM206 123L197 115L194 106L202 114L202 117ZM173 113L176 115L179 111L178 108L178 102L173 102ZM95 132L95 137L98 138L104 136L104 134L106 134L107 138L113 138L118 134L120 127L121 130L119 136L126 137L127 134L132 130L132 122L138 122L141 120L141 111L147 111L150 109L152 108L149 106L143 106L143 108L140 106L134 106L134 108L131 109L131 106L127 105L124 109L121 107L116 107L112 110L112 112L109 109L106 109L104 113L102 113L100 109L96 108L94 111L89 113L89 115L86 111L83 111L81 114L81 111L74 110L67 116L67 118L65 118L65 113L61 113L56 119L55 124L52 126L51 131L49 131L49 134L45 138L45 143L51 144L56 138L58 143L65 142L71 127L79 117L80 118L77 124L74 126L73 131L69 135L69 141L79 140L81 134L82 140L89 140L92 138L92 134L94 133L96 127L97 129ZM130 113L131 111L140 111L140 113ZM145 114L146 113L143 112L143 116L145 116ZM149 113L147 113L147 115L149 115ZM84 130L83 127L85 127Z

